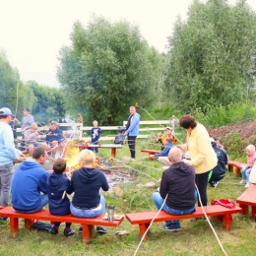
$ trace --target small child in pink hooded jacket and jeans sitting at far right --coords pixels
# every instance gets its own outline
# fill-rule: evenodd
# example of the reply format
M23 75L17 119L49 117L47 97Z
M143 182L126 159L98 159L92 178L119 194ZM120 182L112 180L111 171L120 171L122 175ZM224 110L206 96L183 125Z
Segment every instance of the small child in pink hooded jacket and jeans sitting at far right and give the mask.
M246 184L245 187L249 187L249 175L254 164L255 147L253 145L247 146L245 148L245 154L247 158L247 164L241 169L242 180L239 182L239 184Z

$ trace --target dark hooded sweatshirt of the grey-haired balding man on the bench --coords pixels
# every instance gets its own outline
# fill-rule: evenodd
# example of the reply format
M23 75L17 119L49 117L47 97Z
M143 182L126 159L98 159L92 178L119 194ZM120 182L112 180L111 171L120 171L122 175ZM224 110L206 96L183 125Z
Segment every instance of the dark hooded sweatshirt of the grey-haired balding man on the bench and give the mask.
M161 175L160 196L174 210L189 210L195 207L195 169L183 161L175 162Z

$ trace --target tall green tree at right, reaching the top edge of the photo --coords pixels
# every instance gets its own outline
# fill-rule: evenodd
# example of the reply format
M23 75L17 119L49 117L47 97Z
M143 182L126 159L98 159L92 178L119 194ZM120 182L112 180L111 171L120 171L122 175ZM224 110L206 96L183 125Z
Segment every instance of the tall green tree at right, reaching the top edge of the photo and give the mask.
M182 112L227 106L253 86L256 16L246 1L194 1L169 37L165 86Z

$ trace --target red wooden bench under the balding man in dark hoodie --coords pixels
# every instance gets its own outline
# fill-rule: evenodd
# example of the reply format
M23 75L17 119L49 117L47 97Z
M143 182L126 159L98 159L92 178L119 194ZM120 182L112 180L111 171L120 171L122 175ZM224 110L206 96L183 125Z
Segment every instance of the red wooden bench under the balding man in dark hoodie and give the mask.
M225 208L223 206L205 206L204 210L208 217L217 217L218 221L223 222L224 229L226 231L230 230L231 214L242 213L242 209L235 207L234 209ZM140 237L144 235L147 228L149 227L152 220L156 217L158 212L146 212L137 214L127 214L126 219L130 224L139 224ZM196 208L196 212L190 215L169 215L164 211L160 211L159 216L154 220L154 223L160 223L165 221L176 221L181 219L193 219L204 217L204 213L201 207ZM147 235L145 235L144 240L147 240Z

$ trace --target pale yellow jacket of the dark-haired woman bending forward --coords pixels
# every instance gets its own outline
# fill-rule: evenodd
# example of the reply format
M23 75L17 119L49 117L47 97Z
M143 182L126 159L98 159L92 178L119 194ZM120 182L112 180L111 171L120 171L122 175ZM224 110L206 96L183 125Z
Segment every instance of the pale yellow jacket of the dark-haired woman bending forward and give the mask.
M185 149L190 152L197 174L212 170L217 165L218 159L204 125L197 123L191 135L187 134Z

